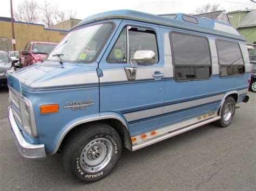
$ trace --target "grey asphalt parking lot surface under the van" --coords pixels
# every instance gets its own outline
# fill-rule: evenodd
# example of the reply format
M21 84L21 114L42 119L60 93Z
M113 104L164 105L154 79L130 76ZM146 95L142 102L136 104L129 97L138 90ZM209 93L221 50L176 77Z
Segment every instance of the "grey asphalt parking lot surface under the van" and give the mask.
M62 155L30 161L19 154L6 114L8 89L0 87L0 189L76 190L255 190L256 94L241 103L228 128L202 126L130 152L113 171L85 185L65 174Z

